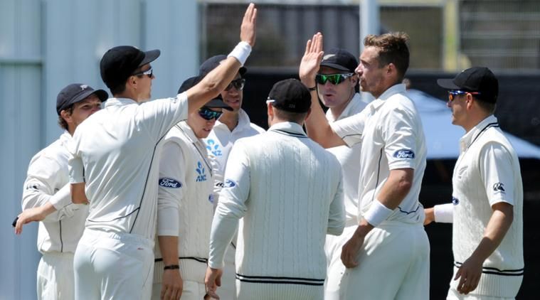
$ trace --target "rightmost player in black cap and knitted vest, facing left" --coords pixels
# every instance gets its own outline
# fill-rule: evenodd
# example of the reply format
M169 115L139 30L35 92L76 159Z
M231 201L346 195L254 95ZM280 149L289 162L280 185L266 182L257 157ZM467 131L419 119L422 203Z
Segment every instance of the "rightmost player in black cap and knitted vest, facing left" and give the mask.
M488 68L438 80L452 124L463 127L452 203L425 210L428 224L452 223L454 276L447 299L515 299L523 281L523 183L514 147L493 112L499 81Z

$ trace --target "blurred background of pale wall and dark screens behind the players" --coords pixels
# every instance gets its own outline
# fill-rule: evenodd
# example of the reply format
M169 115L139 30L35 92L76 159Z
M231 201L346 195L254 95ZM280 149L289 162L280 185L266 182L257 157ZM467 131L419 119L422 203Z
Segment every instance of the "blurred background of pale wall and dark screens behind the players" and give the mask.
M72 82L105 88L103 53L115 45L159 48L152 97L174 95L198 65L238 43L249 1L0 0L0 299L36 299L37 226L15 236L26 168L61 134L58 92ZM253 1L258 36L246 63L244 109L267 127L265 99L277 80L297 77L307 39L355 55L368 33L411 37L411 97L426 131L428 167L420 200L450 201L460 127L450 124L436 79L472 66L499 77L495 115L520 156L524 180L525 277L517 299L538 299L540 234L540 2L538 0ZM444 299L452 275L451 226L426 227L431 242L431 299Z

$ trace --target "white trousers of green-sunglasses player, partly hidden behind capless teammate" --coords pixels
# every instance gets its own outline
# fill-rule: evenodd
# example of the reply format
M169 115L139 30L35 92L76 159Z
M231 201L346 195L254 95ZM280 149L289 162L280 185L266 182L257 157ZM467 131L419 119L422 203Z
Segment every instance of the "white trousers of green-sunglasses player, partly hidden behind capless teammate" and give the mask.
M324 300L339 300L339 289L345 266L342 262L342 247L351 238L356 225L345 227L342 235L327 235L324 253L327 255L327 279L324 282Z

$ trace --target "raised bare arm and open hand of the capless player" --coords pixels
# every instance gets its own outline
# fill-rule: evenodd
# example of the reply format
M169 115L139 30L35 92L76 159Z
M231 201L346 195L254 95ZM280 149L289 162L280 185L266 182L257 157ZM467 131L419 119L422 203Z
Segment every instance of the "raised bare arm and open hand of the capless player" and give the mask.
M307 41L298 75L300 76L300 81L310 89L309 93L311 94L311 112L305 122L307 135L324 148L332 148L334 146L344 145L345 142L330 127L327 118L324 116L324 111L319 104L317 89L312 89L313 87L317 87L315 75L319 71L323 54L322 33L318 32L311 40Z

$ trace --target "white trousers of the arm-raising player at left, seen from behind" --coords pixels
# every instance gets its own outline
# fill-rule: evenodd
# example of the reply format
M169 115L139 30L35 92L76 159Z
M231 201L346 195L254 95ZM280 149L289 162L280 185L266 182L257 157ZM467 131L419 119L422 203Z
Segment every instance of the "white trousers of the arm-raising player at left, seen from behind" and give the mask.
M75 299L150 299L154 242L86 229L75 250Z

